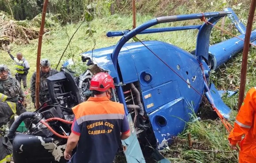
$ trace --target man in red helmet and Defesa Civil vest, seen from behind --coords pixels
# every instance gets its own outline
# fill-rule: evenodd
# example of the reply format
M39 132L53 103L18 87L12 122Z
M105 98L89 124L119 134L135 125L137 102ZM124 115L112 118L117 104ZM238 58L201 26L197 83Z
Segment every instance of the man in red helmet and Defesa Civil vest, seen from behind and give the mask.
M72 108L75 119L64 151L69 163L112 163L120 139L130 136L124 105L109 100L114 88L109 74L98 73L90 82L94 97Z

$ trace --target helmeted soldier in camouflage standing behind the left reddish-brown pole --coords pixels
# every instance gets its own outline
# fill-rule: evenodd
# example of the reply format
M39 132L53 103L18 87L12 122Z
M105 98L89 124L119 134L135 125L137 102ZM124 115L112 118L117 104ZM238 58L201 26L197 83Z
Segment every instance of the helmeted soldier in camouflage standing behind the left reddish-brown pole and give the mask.
M58 71L55 69L51 69L50 61L48 59L42 59L40 61L40 88L39 88L39 101L40 104L43 104L45 101L49 100L49 91L47 86L47 78L54 74L57 74ZM31 99L35 104L36 99L36 71L33 73L31 78Z

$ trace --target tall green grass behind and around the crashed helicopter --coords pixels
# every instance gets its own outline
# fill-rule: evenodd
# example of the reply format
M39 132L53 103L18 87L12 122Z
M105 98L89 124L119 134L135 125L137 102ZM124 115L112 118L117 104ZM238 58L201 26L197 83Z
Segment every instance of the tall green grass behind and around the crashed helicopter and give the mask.
M183 10L182 6L179 10ZM192 13L190 9L189 11ZM196 11L200 9L197 8ZM180 12L181 12L180 11ZM185 12L185 11L183 11ZM187 11L186 11L187 12ZM238 14L245 15L246 14ZM242 18L245 19L245 16ZM137 15L137 26L153 19L151 15ZM201 24L200 20L192 20L186 22L174 22L167 24L160 24L155 27L166 27L166 26L184 26ZM230 21L226 19L225 28L233 33L237 33L237 30L230 28ZM218 24L219 25L219 24ZM79 24L69 24L64 27L58 27L43 37L43 44L41 50L41 58L50 59L53 65L56 65L66 48L68 41L72 34L75 32ZM254 25L255 26L255 25ZM78 32L73 37L70 47L64 53L64 57L60 63L63 63L68 56L74 55L75 62L81 62L79 54L94 48L94 40L96 41L95 48L103 48L111 45L115 45L120 37L106 37L105 33L110 30L126 30L132 29L132 16L125 15L112 15L105 18L96 18L91 22L91 27L96 30L93 37L87 37L86 24L83 24ZM192 51L196 46L196 30L178 31L178 32L166 32L166 33L155 33L147 35L137 35L140 40L159 40L177 45L187 51ZM221 35L220 31L214 30L211 34L211 44L219 41L223 41L228 36ZM132 41L132 40L131 40ZM30 64L30 71L28 74L28 81L30 81L31 75L36 68L36 57L37 57L38 41L30 41L27 45L11 44L11 52L15 55L17 52L22 52L24 57ZM1 62L7 64L14 74L15 62L11 60L7 52L0 50ZM246 90L256 85L255 72L256 72L256 50L251 49L248 59L248 74L247 74L247 85ZM55 68L55 67L53 67ZM240 84L240 69L241 69L241 54L230 60L216 72L212 73L211 81L219 89L231 89L237 90ZM30 84L28 84L30 86ZM30 100L30 96L27 96ZM224 97L226 104L236 109L237 107L237 96L231 98ZM204 109L205 106L201 106ZM28 109L33 109L33 105L30 104ZM236 111L232 112L230 120L233 122ZM195 116L195 115L192 115ZM192 140L195 141L193 148L199 150L193 150L188 147L187 133L191 133ZM217 120L203 120L188 122L188 129L181 133L177 139L177 143L170 146L169 150L166 151L166 156L173 163L235 163L237 162L237 152L233 152L228 147L227 135L225 128L221 122ZM202 150L205 149L205 151Z

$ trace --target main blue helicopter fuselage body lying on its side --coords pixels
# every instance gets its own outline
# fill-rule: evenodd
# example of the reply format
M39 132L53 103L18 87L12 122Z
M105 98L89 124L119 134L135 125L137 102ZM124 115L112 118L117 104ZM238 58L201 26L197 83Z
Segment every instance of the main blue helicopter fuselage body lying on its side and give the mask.
M124 44L118 65L123 84L139 81L145 112L161 144L184 130L185 122L190 118L188 113L197 112L204 93L203 73L196 56L181 48L161 41L144 41L143 44ZM91 51L82 55L92 57L95 64L115 78L111 59L113 48L96 49L93 56Z

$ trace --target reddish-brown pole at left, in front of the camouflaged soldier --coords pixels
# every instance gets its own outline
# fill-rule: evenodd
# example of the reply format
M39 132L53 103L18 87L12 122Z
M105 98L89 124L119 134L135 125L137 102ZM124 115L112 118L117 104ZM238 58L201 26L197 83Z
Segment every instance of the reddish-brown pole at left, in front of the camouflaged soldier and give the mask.
M38 38L38 56L37 56L37 69L36 69L36 97L35 97L36 98L36 109L38 109L38 107L39 107L41 46L42 46L42 38L43 38L44 27L45 27L45 14L46 14L46 9L47 9L47 4L48 4L48 0L45 0L44 7L43 7L43 13L42 13L39 38Z

